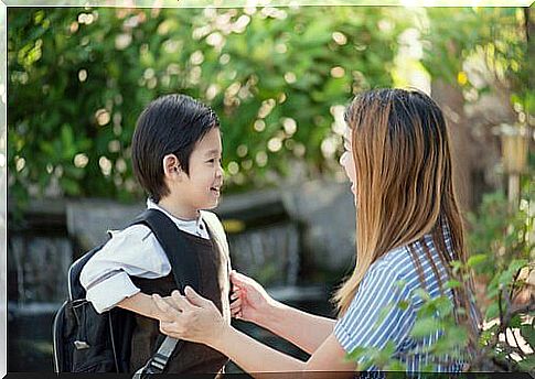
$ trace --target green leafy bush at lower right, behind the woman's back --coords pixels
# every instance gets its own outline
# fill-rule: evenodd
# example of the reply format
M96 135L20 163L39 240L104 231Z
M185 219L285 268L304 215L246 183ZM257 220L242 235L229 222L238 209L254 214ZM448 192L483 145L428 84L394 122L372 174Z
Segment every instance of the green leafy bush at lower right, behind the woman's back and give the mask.
M493 361L506 370L535 372L535 165L522 181L518 204L501 192L486 194L469 214L469 260L479 281L486 326L479 368ZM524 339L523 344L518 340ZM521 346L518 346L521 345ZM488 368L488 367L486 367Z

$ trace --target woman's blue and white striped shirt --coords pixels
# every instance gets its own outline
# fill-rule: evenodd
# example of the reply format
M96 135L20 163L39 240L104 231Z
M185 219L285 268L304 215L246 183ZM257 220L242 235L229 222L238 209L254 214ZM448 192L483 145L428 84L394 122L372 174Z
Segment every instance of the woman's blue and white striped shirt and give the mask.
M446 238L445 242L448 251L452 251L450 239ZM422 243L427 245L442 283L448 280L448 277L430 235L413 245L424 271L424 289L431 299L435 299L441 295L439 282L432 271L431 262L426 259ZM460 371L463 361L450 360L445 356L443 361L450 360L453 364L440 365L434 362L428 354L422 353L426 347L437 342L441 335L440 331L418 339L409 335L416 321L416 313L424 302L415 294L415 290L420 288L420 278L407 246L396 248L375 261L364 275L350 307L334 326L334 335L344 350L352 353L356 347L384 349L387 342L393 342L394 357L406 365L407 372L420 371L425 367L432 367L435 372ZM451 301L453 300L451 290L445 290L445 294ZM407 306L399 307L400 302ZM365 356L356 362L362 365L364 360ZM367 369L367 371L375 370L377 370L375 366Z

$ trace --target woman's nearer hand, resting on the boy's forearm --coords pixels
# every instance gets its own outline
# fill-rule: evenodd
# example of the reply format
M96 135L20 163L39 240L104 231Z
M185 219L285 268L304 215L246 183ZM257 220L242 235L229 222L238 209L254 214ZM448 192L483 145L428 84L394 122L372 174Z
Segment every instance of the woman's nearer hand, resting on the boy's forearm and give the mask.
M172 305L158 294L152 295L158 308L170 320L160 321L160 331L173 338L213 345L228 325L212 301L197 294L191 286L186 286L184 293L185 296L173 291Z

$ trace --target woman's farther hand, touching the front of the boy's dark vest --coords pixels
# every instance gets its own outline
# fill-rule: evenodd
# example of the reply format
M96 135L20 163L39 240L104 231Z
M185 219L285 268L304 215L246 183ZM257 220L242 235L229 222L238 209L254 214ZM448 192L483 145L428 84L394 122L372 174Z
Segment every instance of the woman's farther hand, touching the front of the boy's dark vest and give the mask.
M261 324L263 318L277 303L254 279L236 271L231 272L233 293L231 314L233 317Z

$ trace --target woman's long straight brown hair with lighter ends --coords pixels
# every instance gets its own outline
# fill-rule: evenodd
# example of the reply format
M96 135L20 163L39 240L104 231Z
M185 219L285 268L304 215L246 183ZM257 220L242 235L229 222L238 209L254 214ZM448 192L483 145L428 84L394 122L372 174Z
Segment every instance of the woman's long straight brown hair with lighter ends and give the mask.
M448 278L464 282L453 289L457 315L469 326L470 345L478 325L471 320L470 280L456 278L452 260L466 263L463 223L456 198L448 130L442 111L418 90L376 89L357 96L345 111L352 129L356 172L356 267L334 295L343 315L370 266L386 252L408 246L424 284L421 263L413 247L431 235ZM445 232L451 238L447 249ZM430 251L427 259L442 288ZM470 321L470 322L468 322Z

